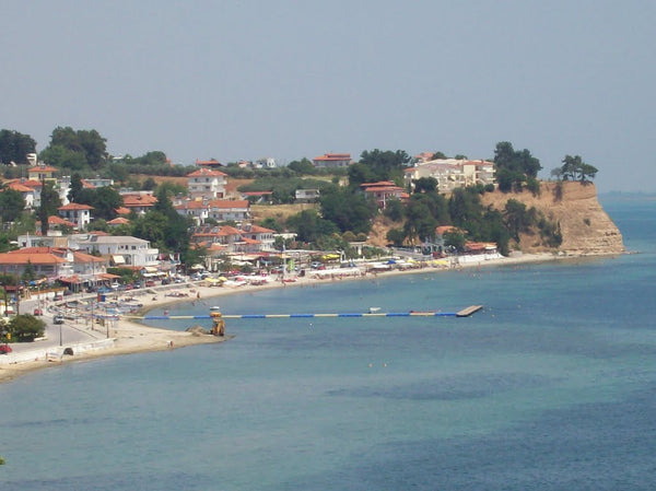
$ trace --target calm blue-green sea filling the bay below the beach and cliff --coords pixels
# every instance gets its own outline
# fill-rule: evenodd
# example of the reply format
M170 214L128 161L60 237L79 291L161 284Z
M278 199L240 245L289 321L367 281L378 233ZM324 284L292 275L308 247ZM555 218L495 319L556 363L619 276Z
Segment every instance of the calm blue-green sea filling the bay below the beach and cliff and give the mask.
M2 384L0 490L654 490L656 199L600 200L634 254L169 307L471 317L230 319Z

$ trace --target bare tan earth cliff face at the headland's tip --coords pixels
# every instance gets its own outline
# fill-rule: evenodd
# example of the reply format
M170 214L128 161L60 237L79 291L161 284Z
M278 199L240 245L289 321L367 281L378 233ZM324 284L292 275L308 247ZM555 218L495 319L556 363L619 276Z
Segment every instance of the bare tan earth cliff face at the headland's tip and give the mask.
M508 199L516 199L535 207L552 222L560 224L563 242L559 250L567 255L620 254L624 252L622 235L597 199L594 184L562 183L562 195L555 197L555 183L541 183L540 196L530 192L485 192L481 201L503 210ZM539 245L539 236L524 234L522 250L537 253L547 250Z

